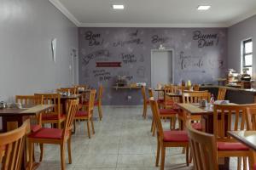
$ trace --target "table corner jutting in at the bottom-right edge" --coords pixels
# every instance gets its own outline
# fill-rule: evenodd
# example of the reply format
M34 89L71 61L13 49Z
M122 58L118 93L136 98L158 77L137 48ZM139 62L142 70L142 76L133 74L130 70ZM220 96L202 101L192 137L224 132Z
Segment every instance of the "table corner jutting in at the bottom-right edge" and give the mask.
M247 147L250 149L251 156L249 157L249 165L250 169L253 169L253 165L256 163L256 131L228 131L228 134L242 144L247 145Z

